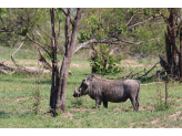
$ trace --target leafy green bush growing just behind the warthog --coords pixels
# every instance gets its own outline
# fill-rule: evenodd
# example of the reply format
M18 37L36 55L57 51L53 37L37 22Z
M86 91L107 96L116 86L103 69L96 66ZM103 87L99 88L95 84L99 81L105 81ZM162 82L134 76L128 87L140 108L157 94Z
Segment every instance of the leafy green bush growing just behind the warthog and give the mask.
M98 46L97 59L91 55L89 59L90 65L97 71L98 74L117 74L122 72L120 67L120 61L123 59L123 55L114 57L113 54L109 54L107 44L101 44Z

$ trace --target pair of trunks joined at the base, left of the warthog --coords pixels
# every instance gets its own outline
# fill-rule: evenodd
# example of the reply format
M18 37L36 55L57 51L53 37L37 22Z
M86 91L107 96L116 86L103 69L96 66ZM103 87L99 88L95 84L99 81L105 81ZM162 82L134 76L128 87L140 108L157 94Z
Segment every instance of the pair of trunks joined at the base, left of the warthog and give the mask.
M71 19L71 9L68 8L68 12L61 9L67 15L65 19L65 54L62 60L62 65L60 69L60 77L58 76L58 52L57 52L57 40L54 31L54 11L53 8L50 9L51 12L51 24L52 24L52 86L50 95L50 108L55 116L55 111L65 112L65 86L68 80L68 69L71 63L72 55L75 50L77 35L79 21L81 19L82 8L78 9L74 20ZM70 22L72 24L72 33L70 36ZM55 57L55 59L54 59ZM57 62L55 62L57 61ZM55 74L54 74L55 73Z

